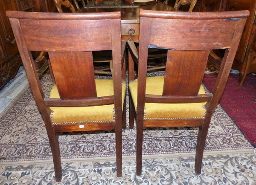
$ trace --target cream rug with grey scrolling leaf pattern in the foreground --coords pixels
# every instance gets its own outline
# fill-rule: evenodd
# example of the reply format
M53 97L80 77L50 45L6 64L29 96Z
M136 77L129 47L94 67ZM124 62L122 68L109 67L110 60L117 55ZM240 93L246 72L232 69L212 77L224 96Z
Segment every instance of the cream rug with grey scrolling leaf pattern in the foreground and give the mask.
M0 167L0 184L18 185L256 185L256 155L204 156L201 175L195 174L194 157L143 160L136 176L134 159L123 160L122 178L115 161L62 163L62 181L55 182L51 164Z

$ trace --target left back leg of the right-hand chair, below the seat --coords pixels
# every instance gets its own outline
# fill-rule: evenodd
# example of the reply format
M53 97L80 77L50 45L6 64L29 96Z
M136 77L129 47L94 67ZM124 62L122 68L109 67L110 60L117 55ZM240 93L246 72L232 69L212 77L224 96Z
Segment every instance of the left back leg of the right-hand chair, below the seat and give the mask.
M143 118L137 120L137 139L136 139L136 175L142 174L142 142L143 142Z

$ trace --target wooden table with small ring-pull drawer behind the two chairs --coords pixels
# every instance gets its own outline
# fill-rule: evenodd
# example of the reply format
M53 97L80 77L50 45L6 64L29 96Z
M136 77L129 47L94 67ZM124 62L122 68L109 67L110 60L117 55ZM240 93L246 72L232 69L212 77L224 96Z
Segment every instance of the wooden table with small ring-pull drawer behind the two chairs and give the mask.
M140 5L133 8L82 8L78 12L121 12L121 32L122 40L133 39L139 41L139 27L140 27L140 9L158 10L158 11L177 11L171 6L164 3L157 2L150 5Z

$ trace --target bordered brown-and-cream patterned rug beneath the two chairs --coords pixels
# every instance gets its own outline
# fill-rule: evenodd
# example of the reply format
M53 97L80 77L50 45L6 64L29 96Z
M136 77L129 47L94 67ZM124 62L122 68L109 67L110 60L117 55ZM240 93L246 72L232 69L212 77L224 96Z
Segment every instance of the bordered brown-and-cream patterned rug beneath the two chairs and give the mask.
M50 75L41 79L49 93ZM32 98L30 88L17 96L0 115L0 162L2 165L32 164L52 161L44 122ZM161 128L144 132L143 157L194 156L197 128ZM136 130L123 130L124 159L135 157ZM113 132L84 132L59 136L62 162L115 159ZM205 154L250 153L253 146L236 124L218 106L209 127Z

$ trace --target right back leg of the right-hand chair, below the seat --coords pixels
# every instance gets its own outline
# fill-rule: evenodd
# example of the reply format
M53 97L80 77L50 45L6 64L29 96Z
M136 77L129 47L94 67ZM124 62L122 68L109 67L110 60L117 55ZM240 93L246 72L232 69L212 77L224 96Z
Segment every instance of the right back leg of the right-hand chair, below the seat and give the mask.
M204 145L205 145L211 117L212 117L212 113L208 113L206 115L204 124L201 127L199 127L199 130L198 130L198 139L197 139L196 152L195 152L195 174L197 175L201 174Z

